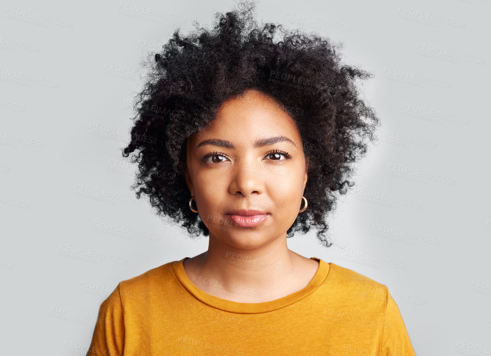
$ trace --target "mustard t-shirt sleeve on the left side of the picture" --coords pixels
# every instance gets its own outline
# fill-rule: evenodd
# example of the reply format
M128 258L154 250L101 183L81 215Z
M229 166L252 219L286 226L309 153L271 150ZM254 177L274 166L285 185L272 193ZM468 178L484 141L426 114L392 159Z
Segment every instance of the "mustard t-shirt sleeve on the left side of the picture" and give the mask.
M119 284L99 307L86 356L123 356L124 315Z

